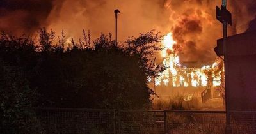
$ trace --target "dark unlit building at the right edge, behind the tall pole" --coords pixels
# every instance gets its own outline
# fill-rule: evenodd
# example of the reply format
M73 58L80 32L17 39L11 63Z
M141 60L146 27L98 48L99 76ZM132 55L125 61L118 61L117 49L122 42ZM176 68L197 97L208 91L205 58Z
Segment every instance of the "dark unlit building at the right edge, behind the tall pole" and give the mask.
M214 48L223 56L223 40ZM236 34L227 38L229 110L256 110L256 31Z

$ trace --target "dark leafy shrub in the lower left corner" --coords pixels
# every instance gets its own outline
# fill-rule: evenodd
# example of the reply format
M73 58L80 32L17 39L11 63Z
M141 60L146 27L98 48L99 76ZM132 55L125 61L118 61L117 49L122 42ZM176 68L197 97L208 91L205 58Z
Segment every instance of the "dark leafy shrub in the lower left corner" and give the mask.
M17 68L0 60L0 133L42 133L31 111L35 91Z

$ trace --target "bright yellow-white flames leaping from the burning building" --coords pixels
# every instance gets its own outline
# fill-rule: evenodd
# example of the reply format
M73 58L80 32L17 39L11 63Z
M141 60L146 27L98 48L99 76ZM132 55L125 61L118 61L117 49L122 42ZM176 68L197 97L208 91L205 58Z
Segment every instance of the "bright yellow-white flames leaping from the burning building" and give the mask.
M199 87L220 86L221 84L221 70L219 64L220 59L216 59L211 66L202 66L202 68L187 68L180 64L178 52L174 47L176 41L173 40L172 33L166 34L162 42L164 49L161 51L163 57L163 64L167 69L156 78L156 86L173 86L173 87Z

